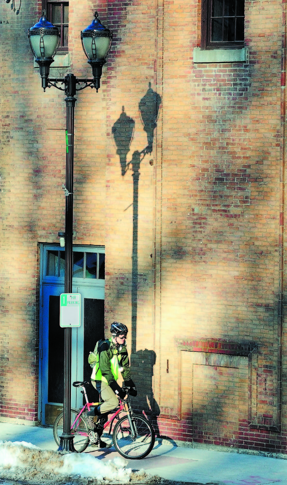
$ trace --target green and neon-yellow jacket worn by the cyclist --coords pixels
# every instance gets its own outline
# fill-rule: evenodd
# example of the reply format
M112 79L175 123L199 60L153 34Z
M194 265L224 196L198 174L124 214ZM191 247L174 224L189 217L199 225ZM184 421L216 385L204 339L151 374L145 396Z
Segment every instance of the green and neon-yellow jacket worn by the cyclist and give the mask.
M112 342L112 338L99 342L97 362L91 375L92 381L104 381L109 385L118 380L119 367L122 367L121 375L124 381L131 379L130 361L127 347L118 347Z

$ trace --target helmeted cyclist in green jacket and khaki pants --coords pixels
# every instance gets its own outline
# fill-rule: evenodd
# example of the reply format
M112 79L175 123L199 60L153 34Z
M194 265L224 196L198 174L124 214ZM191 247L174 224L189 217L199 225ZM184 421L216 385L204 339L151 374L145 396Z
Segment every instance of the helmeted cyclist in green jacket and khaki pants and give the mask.
M131 379L129 356L125 346L128 329L122 323L113 322L110 332L111 338L98 343L97 361L91 376L92 385L100 394L101 404L85 413L89 429L96 429L99 437L108 414L118 406L118 398L126 397L125 391L117 382L119 372L122 374L124 385L130 388L130 394L137 394ZM100 447L108 446L100 440Z

